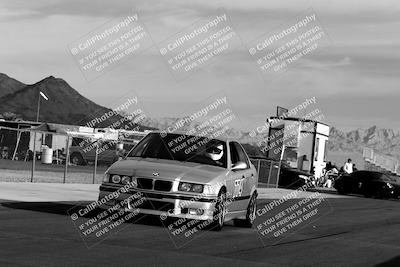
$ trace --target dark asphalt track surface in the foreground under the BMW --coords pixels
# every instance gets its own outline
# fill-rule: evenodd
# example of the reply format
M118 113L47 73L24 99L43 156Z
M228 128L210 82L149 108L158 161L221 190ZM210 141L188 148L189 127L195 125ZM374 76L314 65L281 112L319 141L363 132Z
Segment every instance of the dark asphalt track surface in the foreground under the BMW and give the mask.
M228 222L180 247L144 217L88 248L67 215L76 204L0 201L0 266L400 266L400 200L332 198L283 239Z

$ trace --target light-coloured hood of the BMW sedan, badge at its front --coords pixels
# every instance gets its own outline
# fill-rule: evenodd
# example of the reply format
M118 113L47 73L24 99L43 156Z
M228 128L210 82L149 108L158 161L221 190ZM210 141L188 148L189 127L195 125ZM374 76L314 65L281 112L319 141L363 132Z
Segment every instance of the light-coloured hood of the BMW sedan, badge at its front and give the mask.
M218 177L226 176L228 171L224 168L193 162L134 158L114 163L108 169L108 173L206 184ZM158 176L154 175L156 173Z

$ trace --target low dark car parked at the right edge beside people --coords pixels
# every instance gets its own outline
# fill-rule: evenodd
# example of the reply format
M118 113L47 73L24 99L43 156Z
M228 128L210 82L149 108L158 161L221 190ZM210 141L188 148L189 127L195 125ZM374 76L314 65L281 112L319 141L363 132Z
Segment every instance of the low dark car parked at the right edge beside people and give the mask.
M334 184L339 194L362 194L365 197L398 198L400 179L375 171L356 171L340 176Z

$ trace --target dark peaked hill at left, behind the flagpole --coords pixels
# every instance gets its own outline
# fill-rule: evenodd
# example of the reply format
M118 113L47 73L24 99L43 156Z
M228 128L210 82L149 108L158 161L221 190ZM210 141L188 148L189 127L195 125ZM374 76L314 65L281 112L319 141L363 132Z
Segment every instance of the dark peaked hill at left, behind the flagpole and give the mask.
M5 74L0 75L0 88L3 96L0 97L0 114L15 113L24 120L36 120L37 101L39 91L49 97L49 101L41 100L41 122L60 123L70 125L85 125L93 118L100 117L111 109L100 106L79 94L66 81L49 76L35 84L25 85ZM96 127L108 127L122 116L114 115L96 124ZM122 126L129 125L128 121ZM129 125L129 129L136 127ZM140 125L140 129L149 129Z

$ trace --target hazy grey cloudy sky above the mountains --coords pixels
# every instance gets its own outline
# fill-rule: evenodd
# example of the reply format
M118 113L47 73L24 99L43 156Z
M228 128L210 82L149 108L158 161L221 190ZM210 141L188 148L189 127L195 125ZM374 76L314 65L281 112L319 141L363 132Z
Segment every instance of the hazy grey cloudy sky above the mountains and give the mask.
M244 43L312 8L332 40L284 75L266 82L245 48L177 82L153 47L87 82L67 47L105 22L138 10L158 43L224 8ZM125 12L125 13L124 13ZM151 116L177 116L224 91L251 129L316 97L328 124L349 130L372 125L400 129L400 3L339 1L76 1L0 0L0 72L24 83L53 75L89 99L109 106L134 90Z

